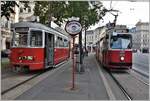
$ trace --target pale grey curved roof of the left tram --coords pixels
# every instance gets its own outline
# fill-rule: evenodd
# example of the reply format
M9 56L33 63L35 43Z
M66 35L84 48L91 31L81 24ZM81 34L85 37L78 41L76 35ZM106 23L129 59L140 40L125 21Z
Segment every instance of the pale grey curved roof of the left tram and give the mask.
M61 34L62 36L67 37L66 35L64 35L62 32L52 28L52 27L47 27L41 23L37 23L37 22L18 22L18 23L14 23L12 24L12 28L19 28L19 27L28 27L28 28L36 28L36 29L41 29L41 30L45 30L45 31L49 31L49 32L54 32L57 34Z

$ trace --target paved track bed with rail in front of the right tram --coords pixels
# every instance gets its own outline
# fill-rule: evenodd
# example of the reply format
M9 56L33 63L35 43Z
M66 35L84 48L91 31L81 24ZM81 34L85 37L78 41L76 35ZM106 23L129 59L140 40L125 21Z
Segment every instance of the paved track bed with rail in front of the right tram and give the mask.
M110 76L124 93L128 100L142 100L149 97L149 84L135 77L129 71L110 72Z

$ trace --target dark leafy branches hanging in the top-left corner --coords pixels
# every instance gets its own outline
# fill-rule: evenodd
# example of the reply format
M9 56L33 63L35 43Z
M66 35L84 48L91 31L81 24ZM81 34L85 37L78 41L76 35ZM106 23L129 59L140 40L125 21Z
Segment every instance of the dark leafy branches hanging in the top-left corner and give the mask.
M20 1L24 4L24 8L29 7L29 1ZM15 14L14 7L19 5L16 1L1 1L1 17L5 16L9 20L11 14Z

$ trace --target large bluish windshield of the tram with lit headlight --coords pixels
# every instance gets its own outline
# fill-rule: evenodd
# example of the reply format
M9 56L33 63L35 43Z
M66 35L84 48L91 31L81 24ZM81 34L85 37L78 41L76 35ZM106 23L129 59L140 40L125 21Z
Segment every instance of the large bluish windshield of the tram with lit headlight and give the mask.
M111 36L110 47L112 49L131 49L131 35L118 34Z

